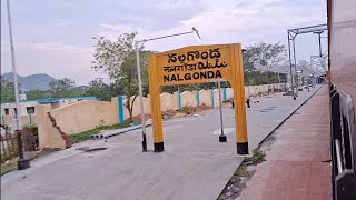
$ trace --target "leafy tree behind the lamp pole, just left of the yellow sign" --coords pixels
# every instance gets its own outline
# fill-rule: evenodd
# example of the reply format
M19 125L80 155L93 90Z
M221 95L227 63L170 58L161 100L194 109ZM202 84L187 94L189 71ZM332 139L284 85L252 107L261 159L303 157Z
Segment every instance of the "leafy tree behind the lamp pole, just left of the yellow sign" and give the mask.
M92 68L95 70L103 70L112 81L122 89L122 92L128 97L125 107L129 110L130 121L132 121L134 103L138 94L138 80L136 69L136 53L134 50L134 40L136 32L123 33L111 41L105 37L93 38L95 44L95 61ZM140 66L142 74L144 93L148 93L148 62L147 57L149 51L144 51L144 46L139 47ZM132 103L131 103L131 98Z

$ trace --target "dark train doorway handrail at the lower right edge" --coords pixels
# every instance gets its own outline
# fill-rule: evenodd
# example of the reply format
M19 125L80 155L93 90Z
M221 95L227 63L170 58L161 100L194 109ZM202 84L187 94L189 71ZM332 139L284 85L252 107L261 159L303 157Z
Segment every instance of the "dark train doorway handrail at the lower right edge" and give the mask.
M333 200L356 199L356 124L350 96L330 86Z

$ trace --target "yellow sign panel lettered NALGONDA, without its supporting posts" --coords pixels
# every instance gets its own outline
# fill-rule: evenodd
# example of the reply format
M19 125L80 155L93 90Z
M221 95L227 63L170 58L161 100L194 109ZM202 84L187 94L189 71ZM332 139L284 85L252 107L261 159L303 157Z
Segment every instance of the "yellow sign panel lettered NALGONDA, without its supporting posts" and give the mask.
M161 86L226 80L231 76L230 46L189 47L156 56Z

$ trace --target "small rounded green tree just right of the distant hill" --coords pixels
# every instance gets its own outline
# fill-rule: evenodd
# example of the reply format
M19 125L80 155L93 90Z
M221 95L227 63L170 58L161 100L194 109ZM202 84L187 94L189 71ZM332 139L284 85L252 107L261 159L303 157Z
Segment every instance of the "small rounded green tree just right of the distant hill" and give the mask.
M69 78L59 79L49 83L49 91L56 98L71 97L75 81Z

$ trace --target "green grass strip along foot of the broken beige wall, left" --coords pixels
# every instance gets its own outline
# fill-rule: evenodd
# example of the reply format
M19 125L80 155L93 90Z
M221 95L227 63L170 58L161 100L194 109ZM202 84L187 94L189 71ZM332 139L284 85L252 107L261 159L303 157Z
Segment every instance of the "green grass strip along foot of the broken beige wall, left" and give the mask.
M77 134L69 134L68 138L69 138L70 142L78 143L78 142L89 140L91 134L97 134L102 130L122 129L122 128L127 128L127 127L129 127L129 124L101 126L101 127L97 127L91 130L79 132Z

